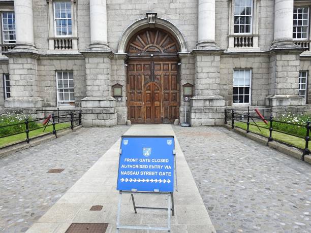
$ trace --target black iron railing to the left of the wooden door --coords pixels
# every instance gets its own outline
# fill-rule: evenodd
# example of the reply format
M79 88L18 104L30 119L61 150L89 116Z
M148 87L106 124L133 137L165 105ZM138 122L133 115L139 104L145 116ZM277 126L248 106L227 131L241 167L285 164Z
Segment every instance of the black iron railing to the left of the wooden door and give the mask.
M74 127L81 125L81 118L82 118L82 111L80 110L79 112L71 112L71 113L66 113L63 115L57 115L57 118L56 118L55 114L52 113L52 114L49 114L47 117L37 118L36 120L25 119L23 122L20 122L20 123L2 125L2 126L0 126L0 129L13 127L13 126L20 126L20 128L25 129L25 130L20 130L20 131L14 132L13 134L1 136L0 139L12 137L15 135L25 134L25 140L18 141L18 142L3 146L3 147L1 147L1 149L9 147L9 146L17 145L17 144L23 143L23 142L29 143L31 140L41 138L41 137L44 137L47 135L55 135L55 138L57 138L57 132L58 131L68 129L68 128L74 129ZM36 124L37 127L31 127L30 128L29 124L34 123L34 122L35 123L43 122L43 124L40 124L40 125ZM68 123L68 125L66 125L66 124L64 125L64 123ZM59 129L56 129L56 125L58 125L58 124L63 124L66 127L61 127ZM40 134L40 135L35 136L35 137L29 137L30 132L32 132L34 130L38 130L38 129L43 129L43 132L44 132L44 130L48 126L53 127L53 130L51 132L47 132L45 134Z

